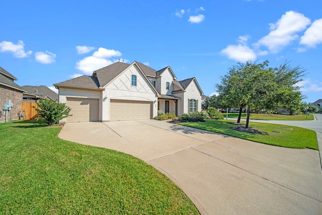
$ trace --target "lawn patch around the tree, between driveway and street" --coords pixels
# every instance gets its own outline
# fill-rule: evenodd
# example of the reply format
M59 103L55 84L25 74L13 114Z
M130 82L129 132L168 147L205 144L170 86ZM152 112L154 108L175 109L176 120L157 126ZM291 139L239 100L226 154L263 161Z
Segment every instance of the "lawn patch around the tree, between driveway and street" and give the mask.
M267 135L252 134L230 129L236 125L229 124L229 121L231 120L206 120L206 122L183 122L180 124L273 146L318 150L316 132L313 130L288 125L250 122L250 127L267 132ZM293 128L294 130L282 127Z

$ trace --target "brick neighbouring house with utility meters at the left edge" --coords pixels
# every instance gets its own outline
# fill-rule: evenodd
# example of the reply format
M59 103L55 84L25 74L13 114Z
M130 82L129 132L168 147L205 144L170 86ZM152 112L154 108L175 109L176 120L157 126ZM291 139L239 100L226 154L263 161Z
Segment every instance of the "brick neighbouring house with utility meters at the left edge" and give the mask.
M7 99L11 99L14 104L12 110L8 113L8 120L19 119L22 109L23 93L26 91L14 83L14 81L17 80L18 79L11 75L7 70L0 67L0 122L3 122L4 120L3 106L7 104Z

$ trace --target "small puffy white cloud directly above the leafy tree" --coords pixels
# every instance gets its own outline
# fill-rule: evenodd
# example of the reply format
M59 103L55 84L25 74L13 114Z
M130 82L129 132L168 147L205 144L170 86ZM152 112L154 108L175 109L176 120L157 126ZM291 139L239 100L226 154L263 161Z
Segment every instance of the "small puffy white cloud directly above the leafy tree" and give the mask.
M255 60L256 53L247 45L228 45L221 50L221 53L226 55L229 59L245 62L247 60Z

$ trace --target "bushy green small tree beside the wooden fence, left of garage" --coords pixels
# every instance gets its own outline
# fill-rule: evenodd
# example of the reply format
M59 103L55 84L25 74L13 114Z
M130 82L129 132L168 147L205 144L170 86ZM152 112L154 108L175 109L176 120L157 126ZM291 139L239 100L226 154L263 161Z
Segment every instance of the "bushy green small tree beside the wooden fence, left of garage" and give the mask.
M37 120L40 118L44 118L48 125L53 125L58 123L59 120L71 116L68 115L70 112L70 107L68 107L65 103L56 103L55 101L49 99L40 99L38 103L38 108L33 106L39 116L36 118Z

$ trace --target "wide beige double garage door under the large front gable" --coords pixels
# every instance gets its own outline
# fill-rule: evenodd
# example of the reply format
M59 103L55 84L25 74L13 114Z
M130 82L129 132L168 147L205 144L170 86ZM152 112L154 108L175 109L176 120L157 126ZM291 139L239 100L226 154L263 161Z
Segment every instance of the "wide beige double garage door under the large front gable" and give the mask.
M110 120L151 119L152 102L112 100Z

